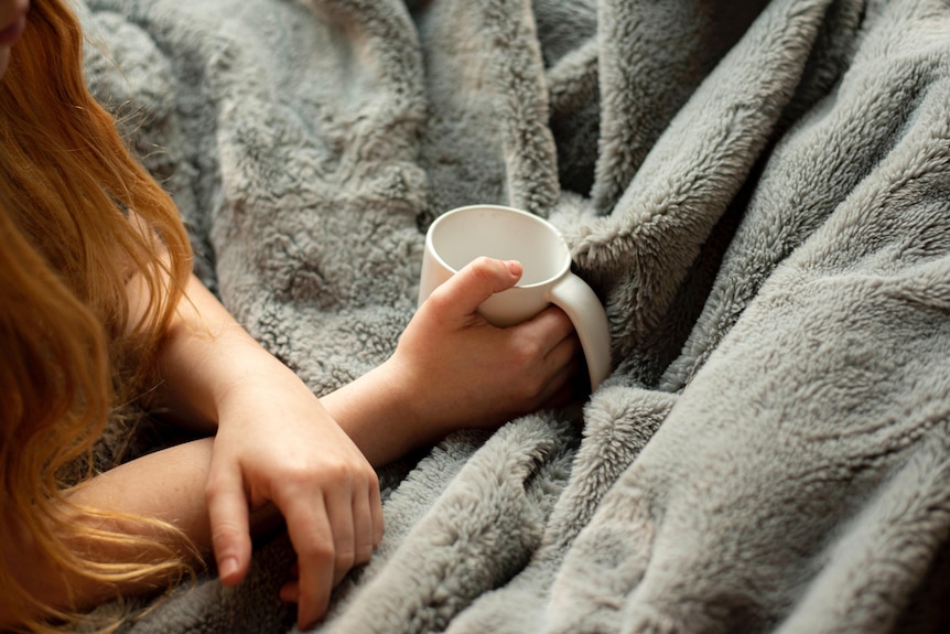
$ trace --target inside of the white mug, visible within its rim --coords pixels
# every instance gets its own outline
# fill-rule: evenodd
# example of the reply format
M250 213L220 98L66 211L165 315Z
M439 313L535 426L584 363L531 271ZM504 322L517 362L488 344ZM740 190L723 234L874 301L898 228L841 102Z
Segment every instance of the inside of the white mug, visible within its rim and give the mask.
M553 225L509 207L449 212L432 224L429 240L433 254L454 271L481 256L520 261L525 272L519 287L544 283L571 266L564 239Z

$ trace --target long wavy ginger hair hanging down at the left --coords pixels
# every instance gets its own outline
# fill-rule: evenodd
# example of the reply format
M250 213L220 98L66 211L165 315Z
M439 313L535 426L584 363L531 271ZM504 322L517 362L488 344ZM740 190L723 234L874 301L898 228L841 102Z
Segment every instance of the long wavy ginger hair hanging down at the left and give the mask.
M108 528L119 516L72 505L61 475L83 460L94 475L93 448L110 415L152 380L192 255L172 200L89 95L82 46L64 0L33 0L0 78L0 545L25 531L64 579L109 585L187 568L162 546L168 539L121 534ZM150 298L137 323L132 276ZM101 522L66 519L76 513ZM175 534L158 520L122 519ZM71 542L159 548L168 558L102 562ZM0 595L24 631L53 631L75 615L41 604L7 557Z

